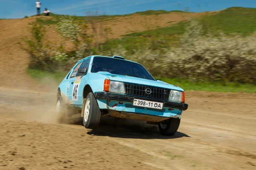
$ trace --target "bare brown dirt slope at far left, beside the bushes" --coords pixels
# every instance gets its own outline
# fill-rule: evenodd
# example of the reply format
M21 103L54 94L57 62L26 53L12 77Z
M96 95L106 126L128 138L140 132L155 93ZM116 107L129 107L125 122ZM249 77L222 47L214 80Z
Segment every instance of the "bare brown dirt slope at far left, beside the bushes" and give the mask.
M28 35L28 23L29 20L21 19L0 20L0 79L4 81L0 86L26 88L26 85L32 87L36 83L26 74L28 55L17 44ZM18 82L14 83L14 80Z

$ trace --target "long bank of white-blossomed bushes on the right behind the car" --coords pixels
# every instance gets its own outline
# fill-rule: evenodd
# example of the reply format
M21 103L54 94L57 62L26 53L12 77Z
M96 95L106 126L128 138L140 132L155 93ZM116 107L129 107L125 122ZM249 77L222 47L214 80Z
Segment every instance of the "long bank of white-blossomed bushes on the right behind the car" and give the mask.
M160 77L186 77L194 81L231 81L256 84L256 34L249 37L213 37L192 20L177 48L164 53L150 48L130 58Z

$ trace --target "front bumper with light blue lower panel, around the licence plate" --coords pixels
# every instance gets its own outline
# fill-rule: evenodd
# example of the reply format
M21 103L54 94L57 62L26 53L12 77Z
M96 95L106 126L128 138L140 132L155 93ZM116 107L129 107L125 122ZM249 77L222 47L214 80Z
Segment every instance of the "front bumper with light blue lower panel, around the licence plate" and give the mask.
M111 110L116 113L137 113L148 116L180 118L183 111L186 111L186 103L167 102L161 99L152 99L141 96L131 96L126 94L114 94L110 92L94 93L100 109ZM148 100L152 102L163 102L163 109L152 109L134 106L134 99Z

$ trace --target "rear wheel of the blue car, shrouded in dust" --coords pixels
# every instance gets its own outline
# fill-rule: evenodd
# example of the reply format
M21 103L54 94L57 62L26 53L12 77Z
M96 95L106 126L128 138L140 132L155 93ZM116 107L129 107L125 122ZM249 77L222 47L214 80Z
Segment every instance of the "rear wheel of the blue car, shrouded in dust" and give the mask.
M58 108L58 105L59 105L59 108ZM58 122L67 123L70 121L71 115L70 115L69 108L64 104L61 96L58 96L58 99L56 102L56 113L57 113L56 117Z

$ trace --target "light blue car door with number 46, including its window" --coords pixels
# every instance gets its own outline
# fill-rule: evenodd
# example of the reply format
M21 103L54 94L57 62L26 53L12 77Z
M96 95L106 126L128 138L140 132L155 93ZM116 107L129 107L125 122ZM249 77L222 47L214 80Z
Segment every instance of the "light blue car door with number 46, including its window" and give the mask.
M69 91L69 100L71 105L82 105L82 93L84 89L84 76L86 74L78 73L78 68L87 68L89 67L90 58L84 59L81 62L77 63L73 73L70 76L70 91ZM71 90L72 89L72 90Z

